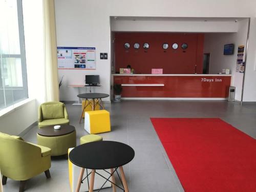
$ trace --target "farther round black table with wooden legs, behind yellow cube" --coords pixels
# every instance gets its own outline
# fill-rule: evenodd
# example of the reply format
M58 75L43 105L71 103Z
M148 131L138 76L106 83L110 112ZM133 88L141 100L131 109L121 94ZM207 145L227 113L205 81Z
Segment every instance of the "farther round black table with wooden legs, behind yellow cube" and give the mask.
M88 105L92 106L93 111L97 105L100 105L101 108L104 109L104 105L103 105L103 102L101 99L105 98L105 97L109 97L109 96L110 96L109 94L105 94L105 93L83 93L83 94L77 95L77 97L79 97L79 98L86 99L86 104L84 104L84 107L82 109L80 122L82 120L83 112Z

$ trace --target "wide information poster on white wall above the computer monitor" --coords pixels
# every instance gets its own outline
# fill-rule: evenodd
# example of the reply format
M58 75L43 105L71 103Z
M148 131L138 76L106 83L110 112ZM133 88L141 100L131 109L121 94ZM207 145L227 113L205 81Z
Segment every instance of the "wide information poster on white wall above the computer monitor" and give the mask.
M96 69L95 47L57 47L58 69Z

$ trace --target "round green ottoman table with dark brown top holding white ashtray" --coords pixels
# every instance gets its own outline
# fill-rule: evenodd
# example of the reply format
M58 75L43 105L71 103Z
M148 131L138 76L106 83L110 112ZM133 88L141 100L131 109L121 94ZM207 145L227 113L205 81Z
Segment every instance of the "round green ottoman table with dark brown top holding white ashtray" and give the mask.
M72 125L60 125L59 130L53 126L40 128L37 132L37 144L51 148L51 156L68 154L68 149L76 147L76 130Z

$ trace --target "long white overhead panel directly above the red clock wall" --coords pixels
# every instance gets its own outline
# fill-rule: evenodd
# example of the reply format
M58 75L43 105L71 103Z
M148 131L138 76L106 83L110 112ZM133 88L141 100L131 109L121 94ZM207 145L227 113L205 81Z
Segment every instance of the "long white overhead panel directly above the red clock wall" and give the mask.
M121 18L120 18L121 19ZM138 18L140 19L140 18ZM111 19L112 31L154 31L154 32L237 32L238 23L232 21L207 20L115 20ZM164 18L163 18L164 19Z

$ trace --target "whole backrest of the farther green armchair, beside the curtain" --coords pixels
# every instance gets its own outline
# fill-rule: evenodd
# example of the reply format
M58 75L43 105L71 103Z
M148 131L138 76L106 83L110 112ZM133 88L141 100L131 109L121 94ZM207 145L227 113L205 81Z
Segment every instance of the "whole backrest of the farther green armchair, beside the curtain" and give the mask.
M38 119L59 119L64 118L65 105L62 102L45 102L42 103L38 108Z

